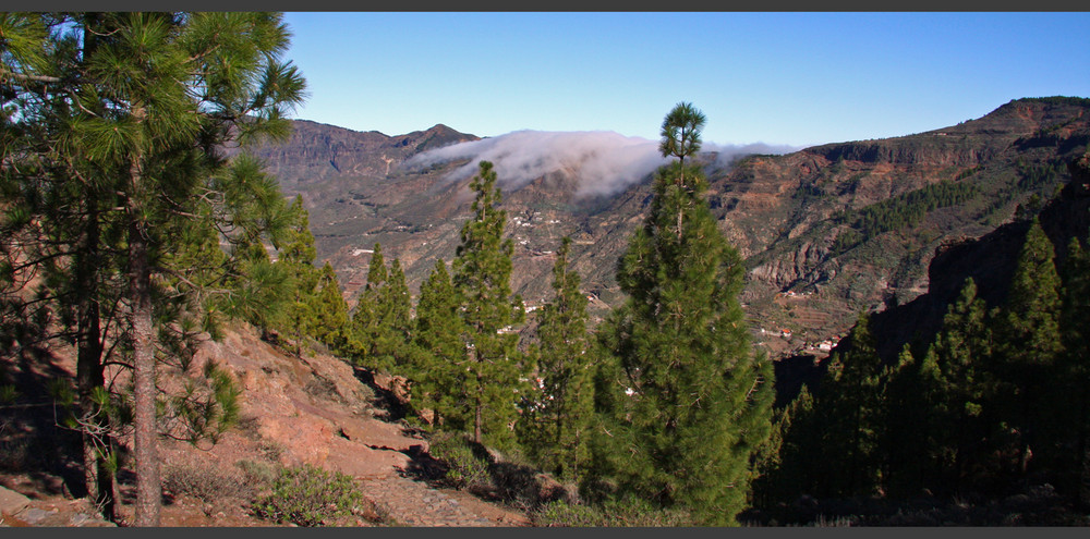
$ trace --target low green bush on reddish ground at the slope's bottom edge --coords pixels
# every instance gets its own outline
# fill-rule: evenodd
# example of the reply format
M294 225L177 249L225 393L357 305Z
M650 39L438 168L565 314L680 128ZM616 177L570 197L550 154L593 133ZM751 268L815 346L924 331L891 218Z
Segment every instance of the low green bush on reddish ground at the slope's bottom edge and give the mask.
M254 511L281 524L325 526L359 512L362 504L351 477L303 465L281 469L272 491L254 504Z

